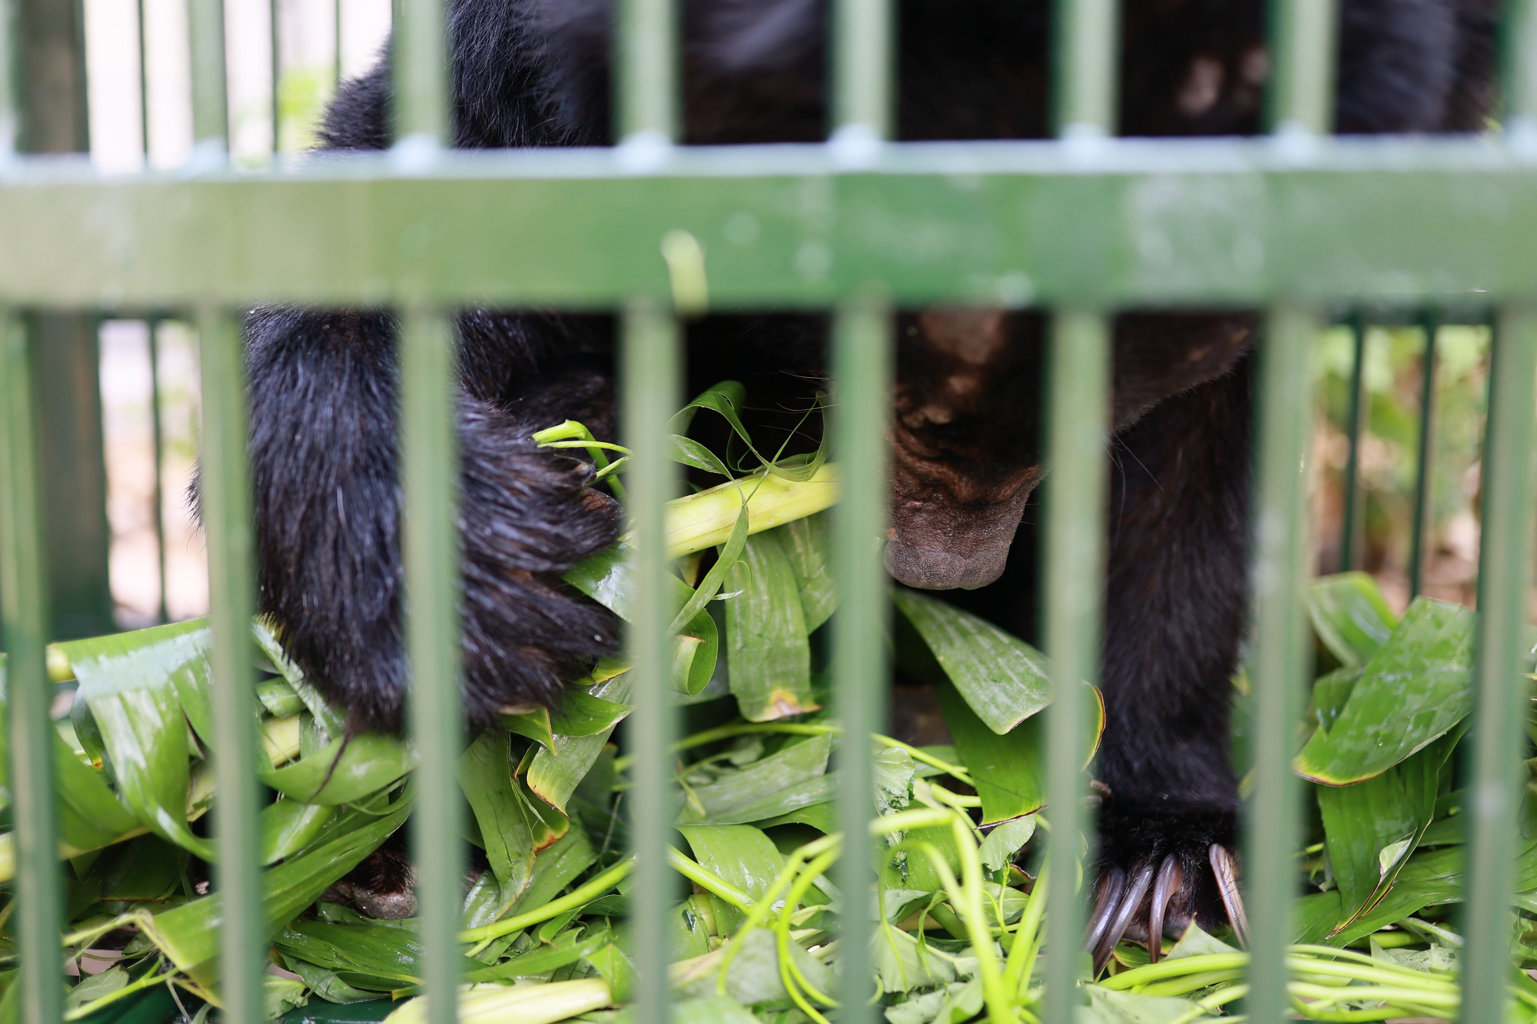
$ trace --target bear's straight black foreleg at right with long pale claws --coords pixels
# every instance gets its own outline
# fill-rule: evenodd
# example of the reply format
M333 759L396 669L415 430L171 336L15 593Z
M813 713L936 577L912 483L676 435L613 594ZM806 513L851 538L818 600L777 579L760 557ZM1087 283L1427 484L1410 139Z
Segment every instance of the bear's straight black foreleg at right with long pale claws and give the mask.
M1147 938L1156 960L1160 935L1191 920L1245 938L1228 731L1247 596L1250 362L1164 401L1114 442L1096 972L1122 936Z

